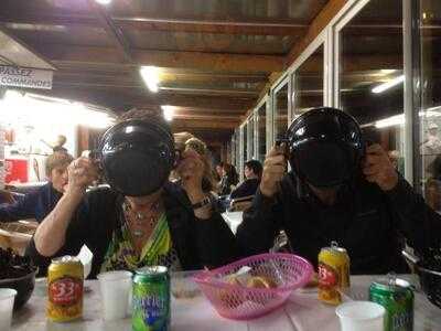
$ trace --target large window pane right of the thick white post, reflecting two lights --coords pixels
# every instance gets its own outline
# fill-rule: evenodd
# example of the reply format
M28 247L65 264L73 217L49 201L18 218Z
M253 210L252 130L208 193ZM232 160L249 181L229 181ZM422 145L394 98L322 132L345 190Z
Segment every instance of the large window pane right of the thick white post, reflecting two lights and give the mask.
M404 174L402 1L369 1L338 33L340 107Z

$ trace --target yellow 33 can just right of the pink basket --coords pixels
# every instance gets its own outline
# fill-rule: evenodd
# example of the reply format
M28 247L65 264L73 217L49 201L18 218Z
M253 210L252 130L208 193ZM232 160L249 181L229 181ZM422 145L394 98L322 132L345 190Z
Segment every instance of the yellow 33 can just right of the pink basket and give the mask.
M342 291L349 288L349 256L336 242L319 254L319 300L340 305Z

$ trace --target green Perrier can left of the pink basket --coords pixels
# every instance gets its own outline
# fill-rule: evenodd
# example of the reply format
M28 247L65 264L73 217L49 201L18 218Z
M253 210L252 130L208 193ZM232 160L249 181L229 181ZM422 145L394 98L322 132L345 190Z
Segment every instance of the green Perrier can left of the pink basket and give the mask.
M144 267L133 277L133 331L168 331L170 328L170 275L166 267Z

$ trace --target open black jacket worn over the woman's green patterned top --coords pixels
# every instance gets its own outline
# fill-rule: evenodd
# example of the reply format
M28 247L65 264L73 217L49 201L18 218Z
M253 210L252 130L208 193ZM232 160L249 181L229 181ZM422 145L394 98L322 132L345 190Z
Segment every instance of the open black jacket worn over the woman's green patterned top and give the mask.
M217 267L236 257L234 235L218 212L214 211L209 220L197 220L182 188L168 183L163 194L171 237L184 270ZM106 188L88 192L67 228L66 244L53 257L77 255L86 244L94 254L89 278L95 278L112 232L120 226L118 215L122 200L122 195ZM42 275L46 274L51 258L37 253L33 239L26 255L40 267Z

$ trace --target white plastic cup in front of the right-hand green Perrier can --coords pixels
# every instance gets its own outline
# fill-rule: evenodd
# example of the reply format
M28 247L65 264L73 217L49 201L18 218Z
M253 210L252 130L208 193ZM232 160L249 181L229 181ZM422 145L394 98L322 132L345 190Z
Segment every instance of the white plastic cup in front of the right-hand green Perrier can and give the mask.
M351 301L335 309L342 331L381 331L386 310L370 301Z

